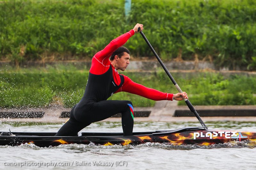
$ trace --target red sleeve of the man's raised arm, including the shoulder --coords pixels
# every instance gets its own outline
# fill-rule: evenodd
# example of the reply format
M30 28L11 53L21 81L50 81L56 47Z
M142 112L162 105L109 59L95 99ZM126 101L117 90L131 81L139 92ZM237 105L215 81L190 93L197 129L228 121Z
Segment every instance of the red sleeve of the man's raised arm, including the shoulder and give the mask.
M128 39L132 37L132 35L134 35L134 31L130 30L129 32L124 33L123 35L120 35L116 39L112 40L103 50L96 53L92 58L92 67L90 69L90 72L92 74L102 74L101 67L104 71L108 70L110 65L108 58L110 57L110 55L117 48L124 45L126 41L128 41Z

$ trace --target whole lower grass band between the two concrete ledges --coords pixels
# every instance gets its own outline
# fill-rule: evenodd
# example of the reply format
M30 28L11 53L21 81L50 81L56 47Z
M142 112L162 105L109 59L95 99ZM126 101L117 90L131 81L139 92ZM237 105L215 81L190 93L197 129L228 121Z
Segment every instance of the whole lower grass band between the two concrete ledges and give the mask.
M68 68L68 69L67 69ZM169 93L176 93L166 73L125 72L134 82ZM193 105L255 105L256 78L248 76L223 77L201 72L196 76L173 77L183 91L188 92ZM45 107L61 102L74 106L83 96L88 70L75 67L2 69L0 70L0 107ZM110 100L131 100L135 107L154 106L155 101L126 92L114 94ZM185 104L180 102L180 104Z

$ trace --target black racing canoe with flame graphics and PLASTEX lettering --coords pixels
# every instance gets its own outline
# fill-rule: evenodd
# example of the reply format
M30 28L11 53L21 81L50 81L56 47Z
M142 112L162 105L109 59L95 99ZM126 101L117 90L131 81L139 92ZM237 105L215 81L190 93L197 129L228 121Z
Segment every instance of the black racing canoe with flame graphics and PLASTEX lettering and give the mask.
M0 132L0 145L17 146L35 144L40 147L58 146L60 144L99 144L99 145L137 145L146 142L211 145L230 141L256 142L256 132L233 130L209 130L205 127L183 127L174 130L154 132L134 132L132 136L123 133L80 133L79 136L54 136L53 132Z

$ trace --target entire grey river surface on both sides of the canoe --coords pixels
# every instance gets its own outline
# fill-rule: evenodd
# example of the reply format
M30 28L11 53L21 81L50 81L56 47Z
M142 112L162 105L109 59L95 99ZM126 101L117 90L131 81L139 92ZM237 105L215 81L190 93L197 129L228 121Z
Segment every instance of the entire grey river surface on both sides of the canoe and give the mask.
M256 122L205 122L209 129L256 131ZM0 131L56 132L62 124L0 122ZM200 126L195 122L135 122L134 132ZM98 122L83 132L122 132L121 122ZM145 143L126 145L34 144L0 146L1 169L256 169L256 147L246 143L212 146Z

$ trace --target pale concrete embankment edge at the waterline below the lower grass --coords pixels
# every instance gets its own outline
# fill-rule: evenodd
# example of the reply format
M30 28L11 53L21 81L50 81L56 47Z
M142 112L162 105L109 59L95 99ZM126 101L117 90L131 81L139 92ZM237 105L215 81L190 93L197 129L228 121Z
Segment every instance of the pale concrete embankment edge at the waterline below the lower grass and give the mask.
M155 107L134 107L135 111L151 111L149 117L135 117L134 121L147 122L198 122L195 116L191 117L174 117L176 110L186 110L190 112L187 106L178 106L177 101L157 101ZM256 105L249 106L196 106L196 110L211 110L218 112L219 110L256 110ZM45 114L42 118L0 118L0 122L49 122L49 123L63 123L68 118L60 118L63 111L70 111L71 108L64 108L56 105L48 108L29 108L29 109L0 109L0 112L36 112L43 111ZM190 112L191 113L191 112ZM256 114L256 111L255 111ZM256 122L256 116L230 115L230 116L201 116L203 121L242 121L242 122ZM119 122L120 118L111 117L103 121Z

